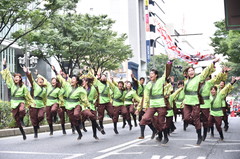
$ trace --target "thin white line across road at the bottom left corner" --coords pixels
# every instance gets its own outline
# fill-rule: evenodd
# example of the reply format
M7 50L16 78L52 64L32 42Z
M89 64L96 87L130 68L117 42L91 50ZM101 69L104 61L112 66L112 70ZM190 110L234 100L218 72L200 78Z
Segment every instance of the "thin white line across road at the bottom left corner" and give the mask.
M0 151L0 153L7 154L29 154L29 155L60 155L60 156L73 156L71 153L48 153L48 152L25 152L25 151ZM83 156L84 154L74 154L78 156Z

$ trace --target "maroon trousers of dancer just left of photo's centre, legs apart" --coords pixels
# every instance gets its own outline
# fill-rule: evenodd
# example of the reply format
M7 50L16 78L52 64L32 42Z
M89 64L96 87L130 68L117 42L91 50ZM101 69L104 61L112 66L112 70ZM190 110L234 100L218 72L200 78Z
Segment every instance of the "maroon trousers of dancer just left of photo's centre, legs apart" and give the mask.
M110 118L112 118L113 116L113 106L112 104L109 103L105 103L105 104L99 104L98 105L98 120L99 121L103 121L104 118L104 110L107 110L108 115L110 116Z

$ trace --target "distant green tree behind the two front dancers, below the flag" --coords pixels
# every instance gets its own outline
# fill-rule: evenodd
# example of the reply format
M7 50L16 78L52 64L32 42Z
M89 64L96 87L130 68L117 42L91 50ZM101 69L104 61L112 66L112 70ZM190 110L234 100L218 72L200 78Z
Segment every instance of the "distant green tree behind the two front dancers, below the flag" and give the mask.
M149 75L149 71L151 69L156 69L158 70L160 76L163 75L167 61L168 61L167 55L161 54L161 55L151 56L150 62L147 66L148 68L147 75ZM173 62L173 68L170 75L175 77L175 81L183 80L184 79L183 70L187 67L189 67L188 63L180 59L175 59Z

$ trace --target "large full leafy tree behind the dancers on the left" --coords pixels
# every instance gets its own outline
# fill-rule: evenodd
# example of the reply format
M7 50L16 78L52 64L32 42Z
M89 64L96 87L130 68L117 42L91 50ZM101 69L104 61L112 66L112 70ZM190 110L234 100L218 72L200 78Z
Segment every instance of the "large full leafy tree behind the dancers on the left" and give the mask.
M112 31L113 24L106 15L54 15L19 44L27 41L33 48L32 53L49 65L47 58L54 57L70 75L81 65L93 68L95 73L104 72L118 68L121 62L132 57L130 46L124 44L126 34L119 36Z

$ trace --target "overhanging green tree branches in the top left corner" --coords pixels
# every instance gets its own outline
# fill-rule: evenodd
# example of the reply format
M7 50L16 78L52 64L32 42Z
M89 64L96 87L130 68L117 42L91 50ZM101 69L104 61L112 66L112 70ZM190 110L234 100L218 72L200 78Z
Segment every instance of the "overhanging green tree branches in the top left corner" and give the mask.
M0 45L4 40L11 42L0 53L18 39L42 26L57 11L73 11L78 0L1 0L0 1ZM21 34L11 37L16 27L22 26ZM25 27L23 27L25 25ZM27 26L27 27L26 27Z

